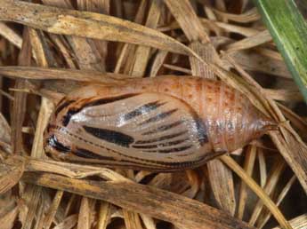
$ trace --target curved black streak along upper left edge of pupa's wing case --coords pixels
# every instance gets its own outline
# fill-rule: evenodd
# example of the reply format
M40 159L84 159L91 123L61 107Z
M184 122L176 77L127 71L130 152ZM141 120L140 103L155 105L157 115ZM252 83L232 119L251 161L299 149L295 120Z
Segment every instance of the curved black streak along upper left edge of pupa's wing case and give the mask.
M80 111L82 111L85 107L95 107L95 106L100 106L100 105L105 105L108 103L113 103L122 99L128 99L134 96L137 96L139 94L125 94L125 95L121 95L121 96L116 96L116 97L108 97L108 98L103 98L103 99L94 99L91 102L85 102L85 104L82 107L75 107L75 108L71 108L69 109L69 111L67 112L67 114L63 117L62 120L62 124L63 126L67 126L69 124L69 121L72 117L72 115L79 113Z

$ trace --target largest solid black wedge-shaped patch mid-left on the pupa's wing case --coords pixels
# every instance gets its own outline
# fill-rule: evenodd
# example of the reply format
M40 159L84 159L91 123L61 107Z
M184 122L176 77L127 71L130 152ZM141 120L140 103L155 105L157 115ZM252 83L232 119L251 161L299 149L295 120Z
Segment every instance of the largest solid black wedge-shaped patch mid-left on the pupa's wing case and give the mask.
M126 135L115 130L107 130L94 128L89 126L83 127L85 131L96 138L101 138L102 140L109 141L110 143L115 143L118 146L129 147L130 144L134 142L134 139L129 135Z

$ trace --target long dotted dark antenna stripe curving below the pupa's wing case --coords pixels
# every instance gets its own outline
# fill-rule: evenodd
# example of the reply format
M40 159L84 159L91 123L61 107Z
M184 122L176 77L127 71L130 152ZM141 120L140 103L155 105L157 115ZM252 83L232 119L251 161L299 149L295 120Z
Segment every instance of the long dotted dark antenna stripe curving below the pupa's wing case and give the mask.
M138 157L133 157L133 156L129 156L129 155L126 155L126 154L121 154L120 152L117 152L115 150L112 150L112 149L109 149L105 146L101 146L99 144L96 144L96 143L93 143L89 140L85 140L84 138L80 138L78 137L77 135L69 132L69 130L67 130L67 128L63 128L61 126L53 126L53 129L56 129L56 130L60 130L74 138L77 138L78 140L80 141L83 141L85 142L85 144L90 144L90 145L93 145L93 146L97 146L101 149L104 149L104 150L107 150L107 151L110 151L110 152L113 152L115 154L118 154L120 156L123 156L124 158L127 157L127 158L130 158L130 159L133 159L135 161L139 161L139 163L143 163L145 165L148 166L147 163L150 163L151 164L155 164L154 166L161 166L161 167L164 167L166 168L166 170L172 170L172 169L175 169L175 168L182 168L182 167L192 167L192 166L195 166L196 164L198 164L199 162L202 162L205 158L205 156L202 156L202 157L199 157L199 159L197 161L188 161L188 162L158 162L158 161L153 161L153 160L148 160L148 159L141 159L141 158L138 158ZM137 164L137 162L135 162L136 166L140 166L140 164ZM162 170L161 168L159 168L158 170Z

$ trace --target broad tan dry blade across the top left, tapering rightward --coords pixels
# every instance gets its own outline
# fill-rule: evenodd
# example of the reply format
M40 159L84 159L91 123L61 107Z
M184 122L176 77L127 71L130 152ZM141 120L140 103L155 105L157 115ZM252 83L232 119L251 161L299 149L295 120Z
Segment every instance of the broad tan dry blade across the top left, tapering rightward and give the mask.
M18 12L22 12L22 15ZM0 6L0 20L14 21L49 33L141 44L166 51L190 54L186 46L170 36L127 20L94 12L77 12L40 4L5 0Z

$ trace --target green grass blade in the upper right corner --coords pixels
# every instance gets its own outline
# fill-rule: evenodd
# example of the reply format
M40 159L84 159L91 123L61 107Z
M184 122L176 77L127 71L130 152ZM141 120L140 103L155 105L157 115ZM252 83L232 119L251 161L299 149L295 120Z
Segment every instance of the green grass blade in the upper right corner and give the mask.
M307 102L307 24L295 0L254 0Z

